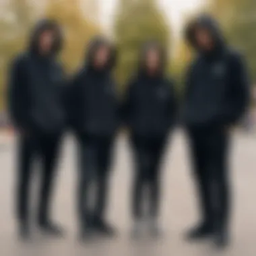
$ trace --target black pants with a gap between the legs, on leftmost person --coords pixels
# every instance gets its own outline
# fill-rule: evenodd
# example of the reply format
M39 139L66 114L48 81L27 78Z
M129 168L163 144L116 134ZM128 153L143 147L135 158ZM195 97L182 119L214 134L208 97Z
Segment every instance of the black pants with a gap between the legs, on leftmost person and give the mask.
M59 151L60 134L33 132L21 135L18 146L17 216L26 224L29 220L30 187L32 185L32 163L35 158L42 162L38 221L49 218L50 201L53 193L55 164Z

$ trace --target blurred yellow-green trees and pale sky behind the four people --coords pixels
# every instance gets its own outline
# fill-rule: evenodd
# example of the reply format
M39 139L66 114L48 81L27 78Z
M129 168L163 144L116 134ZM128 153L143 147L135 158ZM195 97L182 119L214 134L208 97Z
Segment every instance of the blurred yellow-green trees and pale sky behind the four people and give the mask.
M255 83L253 0L1 0L0 9L1 126L7 123L5 91L9 61L26 47L30 29L44 17L53 18L63 26L65 47L61 60L67 73L72 74L83 62L88 40L96 34L106 34L117 42L116 75L123 92L127 77L136 68L139 46L155 38L168 48L168 72L177 81L177 90L182 92L185 67L192 55L183 40L183 28L197 13L212 13L222 24L230 44L247 57L251 82Z

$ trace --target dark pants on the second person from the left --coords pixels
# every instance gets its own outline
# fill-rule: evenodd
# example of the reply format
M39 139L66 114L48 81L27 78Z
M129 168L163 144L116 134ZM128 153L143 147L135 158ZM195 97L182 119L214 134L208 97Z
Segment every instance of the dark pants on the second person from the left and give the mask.
M79 176L77 207L81 224L104 218L113 137L78 135Z

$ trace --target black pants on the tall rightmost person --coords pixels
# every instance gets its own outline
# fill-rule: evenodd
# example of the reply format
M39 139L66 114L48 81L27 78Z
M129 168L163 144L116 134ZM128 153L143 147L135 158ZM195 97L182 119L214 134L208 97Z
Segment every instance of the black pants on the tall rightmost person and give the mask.
M230 210L228 133L220 127L191 128L189 139L203 222L227 228Z

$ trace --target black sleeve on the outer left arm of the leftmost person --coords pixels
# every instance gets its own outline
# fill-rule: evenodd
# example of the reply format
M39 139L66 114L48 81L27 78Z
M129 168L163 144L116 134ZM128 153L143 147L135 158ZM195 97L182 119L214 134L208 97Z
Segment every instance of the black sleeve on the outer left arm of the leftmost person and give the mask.
M18 129L28 126L28 84L24 60L13 61L8 77L8 110L11 121Z

